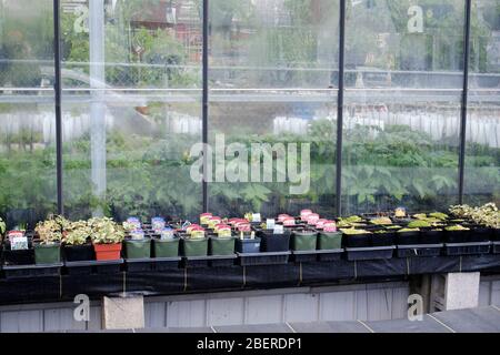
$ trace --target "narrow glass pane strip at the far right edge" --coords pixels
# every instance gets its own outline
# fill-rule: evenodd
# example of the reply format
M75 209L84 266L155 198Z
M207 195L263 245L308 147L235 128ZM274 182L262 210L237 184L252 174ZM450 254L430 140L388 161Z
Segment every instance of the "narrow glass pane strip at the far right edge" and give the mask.
M500 204L500 3L472 1L464 202Z

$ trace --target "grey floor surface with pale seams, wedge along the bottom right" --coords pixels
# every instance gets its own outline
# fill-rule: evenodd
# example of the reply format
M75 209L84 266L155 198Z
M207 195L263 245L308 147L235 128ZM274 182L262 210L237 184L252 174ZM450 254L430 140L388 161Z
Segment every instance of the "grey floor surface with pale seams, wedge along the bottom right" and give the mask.
M147 328L123 331L71 331L58 333L500 333L500 307L427 314L422 321L354 321L231 325L198 328Z

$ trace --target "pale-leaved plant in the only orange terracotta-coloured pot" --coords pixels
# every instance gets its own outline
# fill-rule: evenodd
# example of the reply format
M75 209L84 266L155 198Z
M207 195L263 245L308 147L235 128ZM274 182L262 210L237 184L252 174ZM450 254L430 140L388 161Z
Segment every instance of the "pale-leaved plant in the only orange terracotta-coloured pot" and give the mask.
M94 217L89 220L91 240L96 260L119 260L124 231L112 219Z

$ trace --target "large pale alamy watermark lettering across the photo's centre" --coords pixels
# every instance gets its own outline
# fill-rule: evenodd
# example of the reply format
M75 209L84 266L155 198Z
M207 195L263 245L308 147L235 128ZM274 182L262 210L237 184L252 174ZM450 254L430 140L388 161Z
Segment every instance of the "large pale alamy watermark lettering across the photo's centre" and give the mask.
M207 152L206 159L203 152ZM190 155L197 159L190 172L194 182L281 182L290 184L290 194L309 192L310 143L300 143L300 146L298 143L252 143L249 148L241 143L226 145L224 134L217 134L214 146L197 143Z

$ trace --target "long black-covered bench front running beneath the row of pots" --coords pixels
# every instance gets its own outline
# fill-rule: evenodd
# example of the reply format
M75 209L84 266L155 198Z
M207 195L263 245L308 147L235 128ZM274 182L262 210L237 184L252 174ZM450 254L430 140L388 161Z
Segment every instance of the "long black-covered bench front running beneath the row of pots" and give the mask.
M300 254L299 254L300 255ZM277 255L270 255L277 256ZM50 272L29 267L12 274L2 270L0 304L72 301L78 294L98 300L123 292L143 295L173 295L220 291L266 290L307 285L331 285L339 282L363 282L408 277L420 274L457 272L500 273L500 254L394 257L350 261L347 252L340 258L297 261L293 255L286 263L249 265L220 258L208 262L181 258L157 263L141 261L148 266L130 267L127 261L96 265L47 265ZM303 256L303 255L300 255ZM300 258L299 258L300 260ZM213 263L217 261L217 263ZM161 265L161 267L156 267ZM84 272L71 272L82 267ZM10 274L6 277L6 273Z

